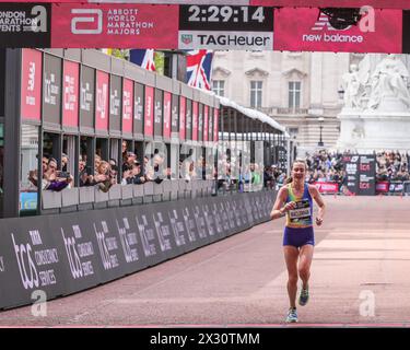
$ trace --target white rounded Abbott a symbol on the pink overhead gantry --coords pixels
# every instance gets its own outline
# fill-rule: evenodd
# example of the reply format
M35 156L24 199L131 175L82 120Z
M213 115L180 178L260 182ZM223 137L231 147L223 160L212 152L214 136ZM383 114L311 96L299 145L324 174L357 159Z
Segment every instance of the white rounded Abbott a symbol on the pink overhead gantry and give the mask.
M71 33L72 34L102 34L103 33L103 10L72 9L71 14L80 14L80 16L73 16L71 19Z

